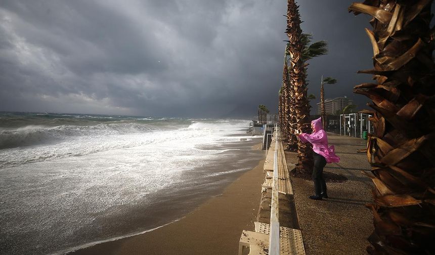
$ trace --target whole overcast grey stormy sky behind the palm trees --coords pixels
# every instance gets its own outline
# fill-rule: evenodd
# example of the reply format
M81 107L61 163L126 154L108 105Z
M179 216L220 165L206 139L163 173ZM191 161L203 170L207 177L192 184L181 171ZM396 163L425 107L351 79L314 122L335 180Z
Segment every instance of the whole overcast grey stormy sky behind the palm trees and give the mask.
M352 88L371 80L353 1L299 1L302 30L327 40L310 60L309 93L368 101ZM0 111L222 117L276 112L286 1L124 0L0 3ZM312 113L316 113L313 109Z

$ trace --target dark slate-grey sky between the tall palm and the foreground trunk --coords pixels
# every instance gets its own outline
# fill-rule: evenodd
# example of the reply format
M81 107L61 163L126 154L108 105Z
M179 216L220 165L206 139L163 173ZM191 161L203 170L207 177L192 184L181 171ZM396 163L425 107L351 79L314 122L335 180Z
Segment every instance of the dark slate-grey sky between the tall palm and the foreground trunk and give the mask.
M359 109L367 108L369 100L352 93L354 86L369 82L371 76L357 74L358 70L371 69L373 51L364 28L370 28L369 16L354 16L347 12L353 1L303 1L300 12L302 29L311 33L314 40L326 40L329 53L310 60L308 67L309 93L316 96L312 113L317 114L320 101L320 81L332 76L336 84L325 85L325 99L347 96L354 100ZM304 15L306 14L306 15Z

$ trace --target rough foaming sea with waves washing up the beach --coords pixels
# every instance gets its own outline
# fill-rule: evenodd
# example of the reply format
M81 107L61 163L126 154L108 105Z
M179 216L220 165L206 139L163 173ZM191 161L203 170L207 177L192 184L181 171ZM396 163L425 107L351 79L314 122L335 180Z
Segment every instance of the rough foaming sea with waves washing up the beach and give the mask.
M249 121L0 112L0 254L64 254L183 218L264 157Z

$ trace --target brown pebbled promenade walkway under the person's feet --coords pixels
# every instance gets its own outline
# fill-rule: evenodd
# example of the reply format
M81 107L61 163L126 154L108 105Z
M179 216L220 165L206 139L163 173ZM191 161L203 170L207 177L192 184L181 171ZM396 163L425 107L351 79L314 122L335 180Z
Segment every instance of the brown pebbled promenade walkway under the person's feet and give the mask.
M307 254L367 254L367 237L373 231L371 211L364 204L372 201L372 182L361 171L369 171L365 153L366 140L328 134L335 146L339 163L327 164L324 173L334 173L347 181L328 182L329 199L311 200L312 181L292 178L294 202ZM286 153L295 162L296 153ZM327 174L328 175L328 174Z

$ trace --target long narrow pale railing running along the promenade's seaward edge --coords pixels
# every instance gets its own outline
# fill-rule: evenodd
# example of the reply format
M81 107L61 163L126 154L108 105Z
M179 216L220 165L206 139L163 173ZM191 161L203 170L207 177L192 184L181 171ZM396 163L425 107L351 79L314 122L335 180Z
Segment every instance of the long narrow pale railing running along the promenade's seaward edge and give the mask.
M269 255L279 255L279 207L278 207L278 126L275 126L275 150L272 181L271 221L269 234Z

